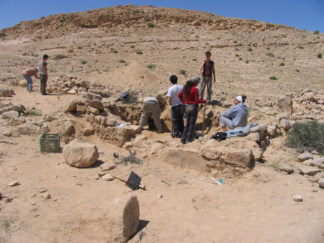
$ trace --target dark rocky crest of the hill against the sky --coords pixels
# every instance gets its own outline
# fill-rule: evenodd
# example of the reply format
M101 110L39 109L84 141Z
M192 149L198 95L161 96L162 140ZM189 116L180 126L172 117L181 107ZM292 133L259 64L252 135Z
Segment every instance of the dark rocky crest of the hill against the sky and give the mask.
M227 18L201 11L156 8L152 6L115 6L86 12L55 14L21 23L1 30L9 36L37 34L38 38L62 36L66 33L77 32L79 28L118 29L123 27L145 27L148 23L160 27L174 24L203 26L210 30L225 29L266 29L291 28L285 25L265 23L255 20Z

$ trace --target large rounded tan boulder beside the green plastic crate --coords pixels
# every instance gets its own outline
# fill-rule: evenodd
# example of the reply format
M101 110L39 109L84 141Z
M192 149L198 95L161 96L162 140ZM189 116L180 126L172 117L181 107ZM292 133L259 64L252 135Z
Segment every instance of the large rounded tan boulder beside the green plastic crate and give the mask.
M96 145L73 140L63 147L63 156L70 166L89 167L96 163L99 153Z

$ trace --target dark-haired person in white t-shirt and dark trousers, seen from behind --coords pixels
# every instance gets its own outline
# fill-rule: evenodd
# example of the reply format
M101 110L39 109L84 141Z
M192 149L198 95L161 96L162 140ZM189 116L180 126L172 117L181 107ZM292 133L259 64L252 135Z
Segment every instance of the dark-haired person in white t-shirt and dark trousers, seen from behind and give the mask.
M182 91L182 86L177 84L178 77L176 75L171 75L170 81L173 86L169 88L167 96L171 105L172 133L176 138L181 138L184 129L183 104L178 98L178 94Z

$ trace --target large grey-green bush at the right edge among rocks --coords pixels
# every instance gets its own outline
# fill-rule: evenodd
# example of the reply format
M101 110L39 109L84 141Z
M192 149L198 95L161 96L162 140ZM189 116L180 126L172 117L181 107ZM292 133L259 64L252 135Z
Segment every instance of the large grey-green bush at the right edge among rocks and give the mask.
M295 123L290 130L286 145L300 153L316 150L322 154L324 152L324 124L318 123L317 120Z

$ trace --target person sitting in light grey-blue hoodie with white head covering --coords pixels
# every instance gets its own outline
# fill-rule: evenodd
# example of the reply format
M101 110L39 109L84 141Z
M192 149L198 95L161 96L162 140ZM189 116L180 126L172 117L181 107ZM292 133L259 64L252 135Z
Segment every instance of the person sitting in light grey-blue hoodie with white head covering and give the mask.
M248 125L248 108L244 104L246 98L245 95L237 96L234 99L234 106L218 116L217 120L224 132L226 126L232 130Z

